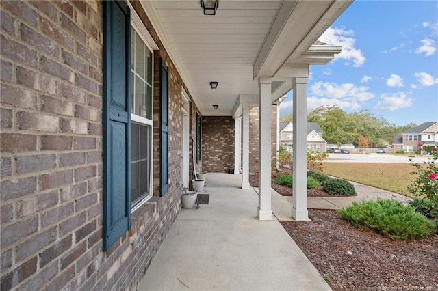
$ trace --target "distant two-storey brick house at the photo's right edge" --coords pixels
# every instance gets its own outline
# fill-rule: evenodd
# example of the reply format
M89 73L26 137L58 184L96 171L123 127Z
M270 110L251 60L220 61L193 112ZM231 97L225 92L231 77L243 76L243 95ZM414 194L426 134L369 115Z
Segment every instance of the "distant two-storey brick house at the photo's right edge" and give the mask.
M396 135L394 152L415 152L424 146L438 146L438 122L424 122Z

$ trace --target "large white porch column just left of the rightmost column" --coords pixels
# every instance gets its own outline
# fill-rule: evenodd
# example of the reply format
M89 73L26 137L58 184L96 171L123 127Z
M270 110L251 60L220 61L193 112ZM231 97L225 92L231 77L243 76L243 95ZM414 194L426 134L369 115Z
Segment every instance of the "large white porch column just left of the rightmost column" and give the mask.
M260 220L271 220L271 84L259 79L259 208Z

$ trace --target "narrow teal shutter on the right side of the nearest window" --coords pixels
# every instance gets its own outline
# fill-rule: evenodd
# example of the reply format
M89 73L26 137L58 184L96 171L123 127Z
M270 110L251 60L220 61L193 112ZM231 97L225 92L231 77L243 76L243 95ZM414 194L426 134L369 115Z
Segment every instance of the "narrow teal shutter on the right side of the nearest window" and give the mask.
M169 86L168 68L161 60L160 68L160 140L159 140L159 195L169 190Z

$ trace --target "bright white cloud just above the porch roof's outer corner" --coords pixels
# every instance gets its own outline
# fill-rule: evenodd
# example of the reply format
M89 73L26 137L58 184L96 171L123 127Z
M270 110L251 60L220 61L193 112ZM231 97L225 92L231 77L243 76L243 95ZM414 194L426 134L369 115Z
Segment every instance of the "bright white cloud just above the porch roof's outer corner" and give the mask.
M352 61L353 67L360 67L365 62L365 57L360 49L355 48L356 39L352 30L329 27L319 40L335 46L342 46L341 53L335 55L335 59L347 59ZM349 63L347 63L349 64Z

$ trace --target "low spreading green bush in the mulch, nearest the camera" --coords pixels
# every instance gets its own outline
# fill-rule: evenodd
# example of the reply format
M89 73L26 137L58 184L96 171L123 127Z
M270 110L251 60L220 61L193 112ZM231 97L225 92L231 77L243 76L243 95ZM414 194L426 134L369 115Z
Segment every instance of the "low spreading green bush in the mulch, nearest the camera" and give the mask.
M356 228L374 230L396 240L414 240L433 234L431 221L396 200L352 202L337 212Z

